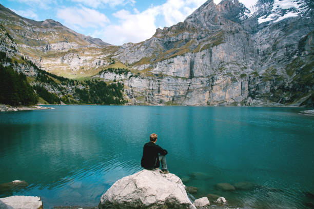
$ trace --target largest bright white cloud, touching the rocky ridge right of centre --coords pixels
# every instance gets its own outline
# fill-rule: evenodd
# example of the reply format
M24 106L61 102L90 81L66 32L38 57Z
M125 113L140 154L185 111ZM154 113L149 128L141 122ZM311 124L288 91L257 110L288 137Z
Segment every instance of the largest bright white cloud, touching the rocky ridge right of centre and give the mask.
M165 4L150 7L143 12L134 9L134 13L120 10L113 14L117 24L111 24L97 30L91 36L100 37L105 42L122 45L128 42L138 43L150 38L156 31L156 16L161 15L165 26L172 26L184 19L206 0L168 0Z

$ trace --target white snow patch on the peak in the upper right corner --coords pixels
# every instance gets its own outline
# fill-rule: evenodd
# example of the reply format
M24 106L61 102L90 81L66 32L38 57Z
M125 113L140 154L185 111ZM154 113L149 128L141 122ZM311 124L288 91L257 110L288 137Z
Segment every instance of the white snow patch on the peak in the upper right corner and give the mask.
M259 7L261 5L264 8L269 8L269 10L258 18L259 24L265 22L277 23L289 17L303 16L306 11L310 10L305 0L271 0L260 4Z

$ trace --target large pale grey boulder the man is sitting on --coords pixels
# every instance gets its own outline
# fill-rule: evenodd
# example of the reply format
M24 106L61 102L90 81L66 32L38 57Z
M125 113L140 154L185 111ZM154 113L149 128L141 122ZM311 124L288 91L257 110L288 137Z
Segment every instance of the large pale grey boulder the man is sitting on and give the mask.
M99 203L100 209L110 208L189 208L185 185L174 174L143 170L117 180Z

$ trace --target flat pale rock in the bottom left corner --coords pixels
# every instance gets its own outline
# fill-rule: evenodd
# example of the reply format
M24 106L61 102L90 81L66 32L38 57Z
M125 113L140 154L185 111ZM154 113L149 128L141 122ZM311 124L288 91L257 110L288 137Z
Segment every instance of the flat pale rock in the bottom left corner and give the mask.
M4 209L39 209L43 208L40 197L11 196L0 198L0 208Z

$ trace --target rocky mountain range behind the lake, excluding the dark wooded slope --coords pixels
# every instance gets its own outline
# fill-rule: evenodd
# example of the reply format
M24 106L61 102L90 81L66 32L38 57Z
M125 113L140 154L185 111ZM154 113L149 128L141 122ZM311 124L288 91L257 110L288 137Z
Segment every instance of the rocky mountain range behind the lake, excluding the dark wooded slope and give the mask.
M18 57L57 76L123 82L128 105L312 107L313 9L311 0L259 0L251 9L208 0L141 43L113 46L0 6L0 51L27 76L36 69ZM45 88L80 99L71 85L66 93Z

